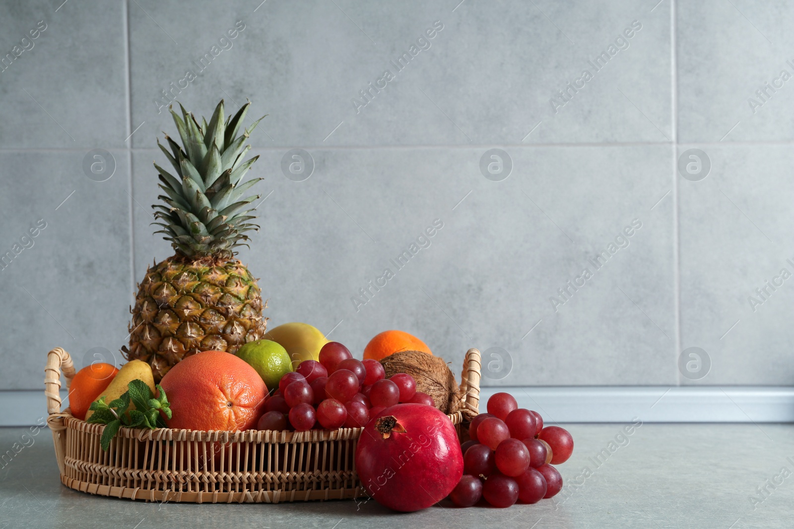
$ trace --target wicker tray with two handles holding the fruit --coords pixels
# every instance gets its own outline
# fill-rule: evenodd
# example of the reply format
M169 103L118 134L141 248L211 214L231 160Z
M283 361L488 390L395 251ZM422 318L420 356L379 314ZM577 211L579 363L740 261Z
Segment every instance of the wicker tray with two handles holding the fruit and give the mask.
M193 503L278 503L365 496L353 454L361 428L314 431L194 431L121 428L110 450L99 447L105 426L60 411L61 373L75 376L69 354L49 351L44 368L47 424L60 481L84 493L131 500ZM449 415L458 435L478 412L480 351L463 362L464 409Z

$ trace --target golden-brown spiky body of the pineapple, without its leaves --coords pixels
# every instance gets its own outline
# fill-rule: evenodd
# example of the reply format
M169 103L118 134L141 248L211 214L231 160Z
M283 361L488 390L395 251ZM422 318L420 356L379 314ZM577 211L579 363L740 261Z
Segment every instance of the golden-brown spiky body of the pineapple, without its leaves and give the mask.
M146 270L125 353L148 362L160 381L199 351L235 353L263 339L263 308L256 278L237 259L171 257Z

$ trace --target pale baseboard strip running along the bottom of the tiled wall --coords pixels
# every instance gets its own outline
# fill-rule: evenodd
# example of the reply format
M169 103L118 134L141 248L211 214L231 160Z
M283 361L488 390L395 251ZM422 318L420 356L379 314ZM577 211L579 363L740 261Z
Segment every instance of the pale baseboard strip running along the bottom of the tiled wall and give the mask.
M794 422L789 386L544 386L483 388L488 397L511 393L518 406L537 410L548 423L788 423ZM66 398L66 392L61 392ZM44 392L0 391L0 427L31 426L47 416ZM39 423L40 424L40 423Z

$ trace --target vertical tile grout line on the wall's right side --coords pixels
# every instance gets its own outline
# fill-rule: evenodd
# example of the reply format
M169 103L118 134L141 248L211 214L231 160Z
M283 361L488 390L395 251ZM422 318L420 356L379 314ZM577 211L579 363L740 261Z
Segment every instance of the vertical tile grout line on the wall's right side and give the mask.
M673 351L673 373L676 374L676 385L681 385L681 373L678 369L678 355L681 351L681 249L680 219L678 196L678 50L676 40L676 7L677 0L670 0L670 110L673 121L673 316L675 317L676 341Z

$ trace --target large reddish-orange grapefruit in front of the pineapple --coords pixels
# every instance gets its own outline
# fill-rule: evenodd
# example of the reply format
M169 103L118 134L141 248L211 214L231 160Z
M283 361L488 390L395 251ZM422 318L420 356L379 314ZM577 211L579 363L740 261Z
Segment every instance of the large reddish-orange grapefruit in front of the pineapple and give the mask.
M225 351L188 356L160 385L171 403L170 428L249 430L264 412L268 387L241 358Z

